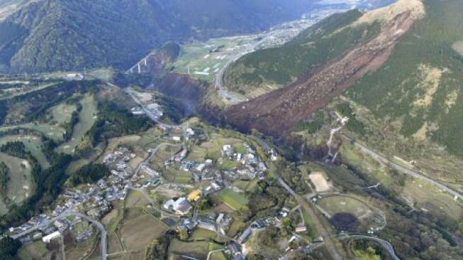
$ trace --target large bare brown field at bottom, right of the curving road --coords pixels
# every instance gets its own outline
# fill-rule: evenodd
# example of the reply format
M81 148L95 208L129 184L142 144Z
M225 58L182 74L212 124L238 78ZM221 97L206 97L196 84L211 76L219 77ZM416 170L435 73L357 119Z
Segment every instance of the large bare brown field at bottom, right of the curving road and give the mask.
M152 239L160 237L167 226L150 215L127 218L121 226L121 239L128 250L139 250L147 247Z

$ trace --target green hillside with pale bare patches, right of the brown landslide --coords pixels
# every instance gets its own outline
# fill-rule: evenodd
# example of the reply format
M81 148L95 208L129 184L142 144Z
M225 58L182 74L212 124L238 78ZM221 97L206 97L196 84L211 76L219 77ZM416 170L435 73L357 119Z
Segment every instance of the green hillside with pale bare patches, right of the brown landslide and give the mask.
M396 45L376 72L365 75L347 96L378 121L415 141L430 139L463 155L463 40L461 1L425 0L426 16Z

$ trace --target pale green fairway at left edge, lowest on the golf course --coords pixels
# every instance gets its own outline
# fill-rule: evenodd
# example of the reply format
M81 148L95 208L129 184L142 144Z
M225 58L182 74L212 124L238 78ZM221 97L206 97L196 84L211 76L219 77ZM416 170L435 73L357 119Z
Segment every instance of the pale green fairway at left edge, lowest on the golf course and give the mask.
M10 169L10 181L7 196L11 203L19 203L25 200L33 190L33 181L30 176L32 166L26 160L0 153L0 161ZM3 205L2 205L3 206ZM2 207L2 209L4 209Z

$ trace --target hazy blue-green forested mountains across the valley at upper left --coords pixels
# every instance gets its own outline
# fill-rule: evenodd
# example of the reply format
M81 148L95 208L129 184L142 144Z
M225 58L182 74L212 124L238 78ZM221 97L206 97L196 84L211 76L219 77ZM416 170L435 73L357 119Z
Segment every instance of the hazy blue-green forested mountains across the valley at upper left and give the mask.
M126 69L167 40L258 31L298 18L311 5L303 0L30 1L0 23L0 68Z

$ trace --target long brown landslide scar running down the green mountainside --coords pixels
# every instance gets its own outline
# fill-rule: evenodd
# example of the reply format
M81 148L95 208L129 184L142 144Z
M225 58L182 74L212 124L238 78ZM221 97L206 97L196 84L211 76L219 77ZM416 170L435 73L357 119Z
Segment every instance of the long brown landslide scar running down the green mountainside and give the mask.
M332 97L388 60L401 36L423 14L421 4L418 0L398 1L389 8L365 13L351 26L381 19L384 22L376 37L291 85L231 107L225 113L228 123L241 131L257 129L263 134L277 137L298 121L310 118Z

